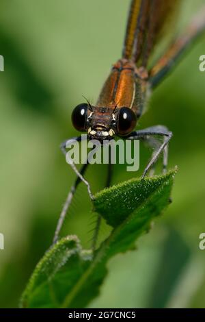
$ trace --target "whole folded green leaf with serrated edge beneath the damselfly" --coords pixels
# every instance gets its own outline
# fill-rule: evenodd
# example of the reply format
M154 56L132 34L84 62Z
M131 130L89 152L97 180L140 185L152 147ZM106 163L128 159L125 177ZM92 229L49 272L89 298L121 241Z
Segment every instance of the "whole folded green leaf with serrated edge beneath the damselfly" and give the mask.
M150 222L169 204L176 171L152 178L131 179L95 196L94 209L113 230L92 255L77 236L62 238L38 263L20 306L24 308L83 308L99 293L107 261L135 247Z

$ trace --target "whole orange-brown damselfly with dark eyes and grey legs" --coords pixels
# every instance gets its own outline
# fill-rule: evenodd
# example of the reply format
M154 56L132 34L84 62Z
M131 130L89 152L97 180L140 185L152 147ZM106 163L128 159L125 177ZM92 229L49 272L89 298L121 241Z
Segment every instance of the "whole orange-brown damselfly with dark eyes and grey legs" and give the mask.
M156 125L136 131L135 127L141 114L145 110L148 95L172 71L175 63L185 50L191 45L205 29L205 8L197 14L184 34L178 36L168 50L148 69L150 55L161 38L161 32L172 12L180 0L132 0L128 14L128 23L122 50L122 58L116 62L102 91L100 92L96 105L90 102L81 103L72 112L72 123L80 132L87 132L87 140L96 138L111 140L120 136L129 140L143 139L153 144L159 137L163 138L160 145L154 145L155 151L146 168L142 179L152 169L160 154L163 153L163 171L167 167L167 148L172 132L167 127ZM61 145L61 150L66 154L66 143L73 139L81 140L81 136L66 140ZM156 148L157 146L157 148ZM59 231L64 222L66 212L72 201L77 186L83 181L88 193L93 198L90 184L83 177L88 163L83 164L80 171L71 163L72 169L77 173L77 179L61 212L57 229L55 231L54 243L57 241ZM107 186L111 182L111 164L107 175ZM98 218L96 234L100 224Z

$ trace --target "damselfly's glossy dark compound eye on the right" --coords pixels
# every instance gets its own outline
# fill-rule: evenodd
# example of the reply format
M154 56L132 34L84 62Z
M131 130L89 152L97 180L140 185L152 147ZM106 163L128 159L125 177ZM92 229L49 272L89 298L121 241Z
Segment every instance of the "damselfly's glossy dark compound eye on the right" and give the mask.
M120 108L118 114L118 134L126 136L130 134L137 123L137 117L131 108Z

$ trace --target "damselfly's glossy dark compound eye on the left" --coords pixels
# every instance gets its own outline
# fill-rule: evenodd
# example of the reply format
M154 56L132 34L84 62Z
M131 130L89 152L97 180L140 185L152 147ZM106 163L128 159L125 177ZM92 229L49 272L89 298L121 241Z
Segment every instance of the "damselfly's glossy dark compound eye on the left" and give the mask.
M82 103L74 108L72 111L72 125L78 131L85 131L87 119L87 104Z

